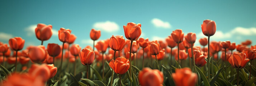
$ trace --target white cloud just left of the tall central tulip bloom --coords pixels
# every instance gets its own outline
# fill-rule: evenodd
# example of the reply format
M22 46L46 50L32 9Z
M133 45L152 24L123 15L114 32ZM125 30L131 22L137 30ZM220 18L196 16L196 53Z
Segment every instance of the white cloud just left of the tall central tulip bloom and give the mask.
M93 28L104 30L105 32L114 32L119 30L118 24L110 21L96 22L93 24Z

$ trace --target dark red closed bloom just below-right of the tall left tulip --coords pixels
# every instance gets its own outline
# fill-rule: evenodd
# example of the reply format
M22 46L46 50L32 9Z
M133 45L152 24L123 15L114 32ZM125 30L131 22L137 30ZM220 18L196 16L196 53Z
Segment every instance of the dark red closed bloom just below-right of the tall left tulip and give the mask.
M47 46L49 56L56 57L61 53L61 47L58 44L49 43Z

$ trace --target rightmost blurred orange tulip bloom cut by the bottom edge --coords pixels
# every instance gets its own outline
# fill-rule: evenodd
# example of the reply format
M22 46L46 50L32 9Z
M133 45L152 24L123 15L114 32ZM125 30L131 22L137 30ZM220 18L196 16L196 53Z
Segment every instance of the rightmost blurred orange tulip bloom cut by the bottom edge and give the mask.
M196 73L193 73L190 68L176 69L171 76L176 86L195 86L197 81Z

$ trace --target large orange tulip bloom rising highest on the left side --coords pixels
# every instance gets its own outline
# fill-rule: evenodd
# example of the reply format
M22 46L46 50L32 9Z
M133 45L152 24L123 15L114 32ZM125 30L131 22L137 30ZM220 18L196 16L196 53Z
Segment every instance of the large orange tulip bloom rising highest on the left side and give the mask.
M52 25L37 24L35 35L41 41L50 39L52 37Z

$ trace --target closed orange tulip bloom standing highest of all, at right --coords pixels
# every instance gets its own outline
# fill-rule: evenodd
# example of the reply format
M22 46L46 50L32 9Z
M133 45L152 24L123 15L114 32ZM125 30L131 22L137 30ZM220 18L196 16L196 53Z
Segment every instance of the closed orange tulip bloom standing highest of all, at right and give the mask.
M212 36L216 32L216 23L213 20L204 20L203 24L201 25L202 32L205 36Z

